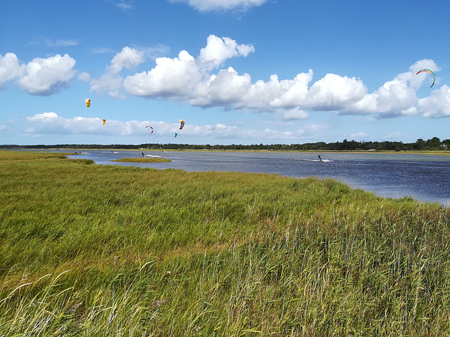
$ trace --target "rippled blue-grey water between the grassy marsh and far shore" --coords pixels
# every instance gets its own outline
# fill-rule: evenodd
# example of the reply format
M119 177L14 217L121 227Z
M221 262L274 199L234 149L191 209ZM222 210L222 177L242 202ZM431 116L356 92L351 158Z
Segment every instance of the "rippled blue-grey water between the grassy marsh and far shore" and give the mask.
M148 157L169 163L117 163L111 160L142 157L140 151L84 150L72 158L96 164L182 169L184 171L237 171L275 173L304 178L335 178L380 197L412 197L450 206L450 157L431 154L324 152L146 151Z

